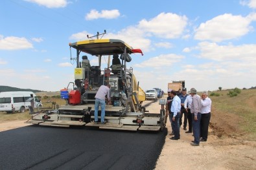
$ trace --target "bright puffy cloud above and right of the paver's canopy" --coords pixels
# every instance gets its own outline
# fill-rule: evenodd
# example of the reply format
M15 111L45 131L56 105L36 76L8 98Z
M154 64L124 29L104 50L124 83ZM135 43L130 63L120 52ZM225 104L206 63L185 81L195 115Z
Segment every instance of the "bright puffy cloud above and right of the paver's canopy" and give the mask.
M146 19L141 20L138 28L157 37L177 38L181 36L187 26L187 20L186 16L162 12L149 21L146 21Z

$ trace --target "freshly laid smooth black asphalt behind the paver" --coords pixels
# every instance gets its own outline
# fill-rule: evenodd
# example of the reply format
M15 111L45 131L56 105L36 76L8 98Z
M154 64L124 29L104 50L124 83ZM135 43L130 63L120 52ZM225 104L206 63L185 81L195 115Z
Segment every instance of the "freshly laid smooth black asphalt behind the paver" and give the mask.
M0 133L0 169L154 169L166 134L30 125Z

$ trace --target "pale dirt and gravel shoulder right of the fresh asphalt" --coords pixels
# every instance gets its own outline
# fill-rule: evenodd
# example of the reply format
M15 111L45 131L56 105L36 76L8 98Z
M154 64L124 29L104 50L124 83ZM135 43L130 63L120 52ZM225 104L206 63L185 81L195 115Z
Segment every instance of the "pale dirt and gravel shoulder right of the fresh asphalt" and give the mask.
M170 123L167 123L170 133ZM181 128L181 139L169 134L157 161L156 170L165 169L256 169L256 142L217 138L210 134L199 147L190 145L192 134Z

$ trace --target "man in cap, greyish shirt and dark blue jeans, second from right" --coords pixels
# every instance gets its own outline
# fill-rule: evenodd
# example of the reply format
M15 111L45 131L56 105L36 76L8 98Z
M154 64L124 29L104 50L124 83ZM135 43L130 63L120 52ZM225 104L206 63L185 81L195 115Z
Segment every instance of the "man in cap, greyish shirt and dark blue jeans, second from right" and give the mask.
M201 121L201 98L196 94L196 89L191 89L192 103L191 103L191 113L192 113L192 129L194 134L194 140L192 141L192 146L199 146L200 143L200 121Z

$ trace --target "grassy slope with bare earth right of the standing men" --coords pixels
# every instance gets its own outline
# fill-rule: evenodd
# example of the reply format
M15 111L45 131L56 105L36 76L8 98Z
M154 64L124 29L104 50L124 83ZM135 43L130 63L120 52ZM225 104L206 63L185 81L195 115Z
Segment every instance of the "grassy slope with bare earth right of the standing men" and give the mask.
M256 140L256 90L241 90L233 97L228 92L217 91L220 96L209 96L213 101L211 122L224 129L225 134Z

